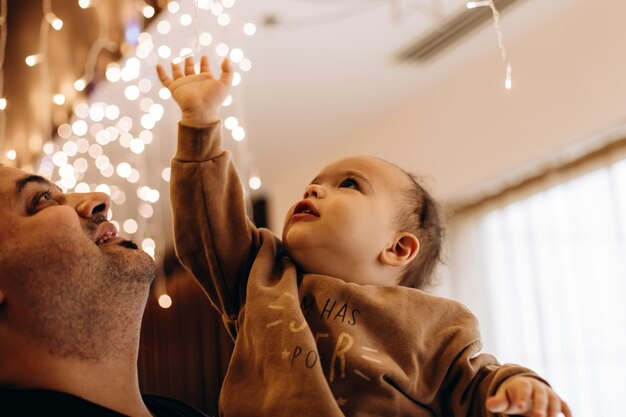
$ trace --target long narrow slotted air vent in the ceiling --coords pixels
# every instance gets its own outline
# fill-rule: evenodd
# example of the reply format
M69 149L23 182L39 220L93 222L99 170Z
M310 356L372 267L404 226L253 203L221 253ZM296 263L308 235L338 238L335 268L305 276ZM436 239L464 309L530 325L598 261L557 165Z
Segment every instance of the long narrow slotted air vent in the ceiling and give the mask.
M518 1L494 0L493 3L496 9L502 12ZM401 51L398 54L398 58L401 61L427 61L474 29L490 21L493 21L490 7L463 9L447 21L444 21L439 29L433 30L413 45Z

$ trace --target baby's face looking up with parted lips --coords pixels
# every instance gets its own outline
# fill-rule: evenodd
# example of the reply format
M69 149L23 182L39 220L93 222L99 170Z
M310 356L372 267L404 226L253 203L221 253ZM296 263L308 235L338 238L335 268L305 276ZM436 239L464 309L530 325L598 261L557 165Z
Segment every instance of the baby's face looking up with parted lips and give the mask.
M397 235L398 205L404 203L407 187L402 171L376 158L352 157L328 165L287 212L287 253L306 273L395 285L396 274L379 256Z

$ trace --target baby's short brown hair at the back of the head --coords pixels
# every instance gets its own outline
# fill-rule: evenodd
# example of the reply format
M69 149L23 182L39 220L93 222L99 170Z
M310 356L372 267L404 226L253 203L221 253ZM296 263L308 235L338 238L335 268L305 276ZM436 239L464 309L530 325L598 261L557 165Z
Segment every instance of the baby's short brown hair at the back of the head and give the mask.
M403 231L413 233L420 243L419 252L404 268L399 285L424 289L434 284L435 269L442 260L441 209L415 175L398 169L407 176L410 187L404 192L397 221Z

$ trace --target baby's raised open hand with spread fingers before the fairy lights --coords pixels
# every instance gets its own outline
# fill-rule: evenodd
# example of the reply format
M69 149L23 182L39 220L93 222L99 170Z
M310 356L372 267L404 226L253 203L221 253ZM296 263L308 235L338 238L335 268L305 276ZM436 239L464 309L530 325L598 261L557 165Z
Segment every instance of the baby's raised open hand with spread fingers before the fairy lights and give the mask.
M233 81L232 65L228 58L222 62L222 73L214 78L209 58L200 58L200 72L196 74L192 57L185 58L184 68L172 63L172 78L161 65L156 67L161 83L172 93L182 111L181 123L192 127L206 127L219 120L219 111Z

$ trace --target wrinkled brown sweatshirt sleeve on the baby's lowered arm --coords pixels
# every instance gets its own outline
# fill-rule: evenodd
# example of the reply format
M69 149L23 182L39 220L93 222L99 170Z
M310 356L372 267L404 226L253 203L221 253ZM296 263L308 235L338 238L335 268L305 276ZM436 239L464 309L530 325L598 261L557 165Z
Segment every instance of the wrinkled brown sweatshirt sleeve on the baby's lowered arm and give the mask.
M438 369L433 373L439 374L435 379L441 384L432 408L438 416L504 417L487 411L485 401L506 379L520 375L546 382L530 369L500 365L492 355L480 353L482 343L476 318L462 305L451 310L455 309L457 324L439 333L443 339L438 341L440 348L432 357Z

